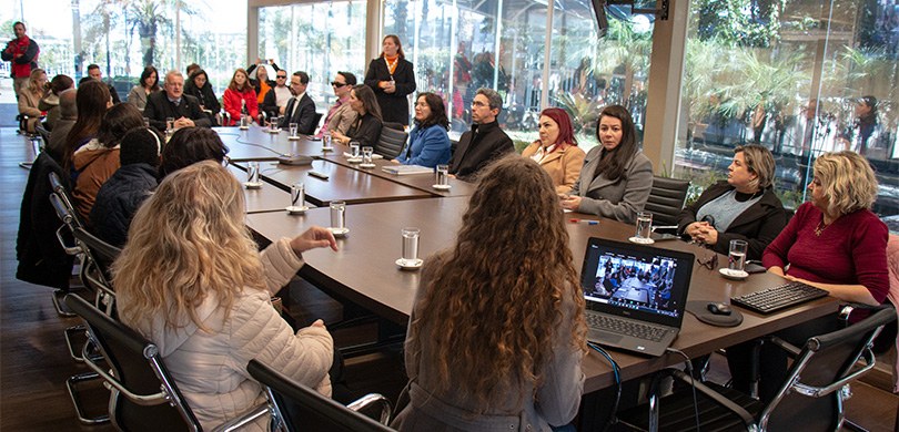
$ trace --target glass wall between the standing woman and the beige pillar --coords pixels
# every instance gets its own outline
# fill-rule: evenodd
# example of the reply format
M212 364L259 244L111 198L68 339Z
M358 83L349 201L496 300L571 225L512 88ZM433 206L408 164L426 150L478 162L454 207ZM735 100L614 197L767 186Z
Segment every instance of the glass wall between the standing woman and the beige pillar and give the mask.
M538 0L392 1L383 34L400 35L418 90L443 95L455 132L471 124L469 105L482 86L503 95L499 122L519 150L536 138L543 103L568 111L585 147L596 144L596 116L606 104L627 104L642 125L650 19L610 8L610 29L600 39L589 1L554 6L548 60L547 3Z

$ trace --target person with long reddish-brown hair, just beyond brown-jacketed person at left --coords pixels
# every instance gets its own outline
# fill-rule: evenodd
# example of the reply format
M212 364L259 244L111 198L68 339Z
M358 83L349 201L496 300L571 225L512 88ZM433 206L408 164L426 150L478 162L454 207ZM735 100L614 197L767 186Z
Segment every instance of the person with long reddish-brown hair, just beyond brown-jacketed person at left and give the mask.
M75 110L78 120L65 136L65 145L62 152L62 168L72 172L72 155L82 145L97 137L100 122L107 110L112 106L109 95L109 88L100 81L88 79L87 82L78 86L75 93ZM74 173L72 173L74 174ZM74 182L75 175L72 175Z

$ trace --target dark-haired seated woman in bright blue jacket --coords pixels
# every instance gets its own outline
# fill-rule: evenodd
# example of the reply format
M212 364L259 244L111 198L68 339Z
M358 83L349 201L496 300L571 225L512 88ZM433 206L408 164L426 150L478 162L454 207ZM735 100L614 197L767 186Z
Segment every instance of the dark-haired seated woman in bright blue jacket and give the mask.
M450 120L443 99L434 93L421 93L415 100L415 128L408 144L393 162L403 165L435 167L450 162Z

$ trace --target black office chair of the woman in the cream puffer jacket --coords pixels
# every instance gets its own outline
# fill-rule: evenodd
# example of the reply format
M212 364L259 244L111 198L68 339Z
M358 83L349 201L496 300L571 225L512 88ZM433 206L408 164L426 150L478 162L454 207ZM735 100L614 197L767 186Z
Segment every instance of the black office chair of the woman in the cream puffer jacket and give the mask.
M85 361L112 389L110 419L121 431L201 431L193 411L165 369L159 349L134 330L103 313L81 297L65 296L65 305L88 326L91 342L108 366ZM85 348L87 350L87 348ZM111 370L111 371L110 371ZM215 431L233 431L270 413L254 407Z

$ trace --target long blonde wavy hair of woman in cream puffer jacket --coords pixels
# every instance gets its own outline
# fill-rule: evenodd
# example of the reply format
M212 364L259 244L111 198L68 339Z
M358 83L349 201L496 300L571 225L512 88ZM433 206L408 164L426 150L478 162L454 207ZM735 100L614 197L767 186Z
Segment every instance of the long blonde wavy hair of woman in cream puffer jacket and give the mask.
M225 319L244 288L265 289L256 245L244 226L243 191L222 165L200 162L170 174L134 215L112 265L125 322L163 317L178 329L214 296Z

